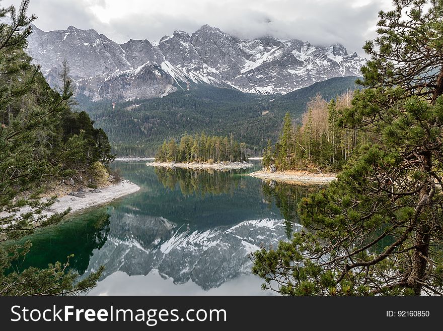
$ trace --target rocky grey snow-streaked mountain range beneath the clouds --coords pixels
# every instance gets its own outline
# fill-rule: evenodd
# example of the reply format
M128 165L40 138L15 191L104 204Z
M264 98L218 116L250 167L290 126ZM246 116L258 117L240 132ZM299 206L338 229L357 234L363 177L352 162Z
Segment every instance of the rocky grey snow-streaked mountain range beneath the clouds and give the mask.
M241 40L208 25L191 36L175 31L158 43L129 40L121 45L93 29L33 31L28 51L51 86L57 85L66 58L77 92L94 100L161 97L188 83L285 94L333 77L359 76L366 61L340 44Z

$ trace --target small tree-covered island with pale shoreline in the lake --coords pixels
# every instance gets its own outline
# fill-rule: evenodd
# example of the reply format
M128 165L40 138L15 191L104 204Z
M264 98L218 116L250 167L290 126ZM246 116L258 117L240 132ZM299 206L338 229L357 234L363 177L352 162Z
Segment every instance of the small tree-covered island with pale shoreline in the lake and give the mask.
M244 169L253 166L245 155L245 144L229 138L201 134L184 135L177 144L166 140L148 166L195 169Z

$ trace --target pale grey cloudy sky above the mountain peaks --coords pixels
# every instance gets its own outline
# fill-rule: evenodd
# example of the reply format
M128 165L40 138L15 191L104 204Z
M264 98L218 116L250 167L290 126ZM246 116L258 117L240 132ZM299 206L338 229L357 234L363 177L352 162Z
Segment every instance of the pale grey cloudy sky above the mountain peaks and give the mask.
M363 55L364 41L375 37L377 13L390 7L390 0L31 0L29 12L44 31L93 28L119 43L160 40L174 30L192 34L209 24L240 38L341 43Z

